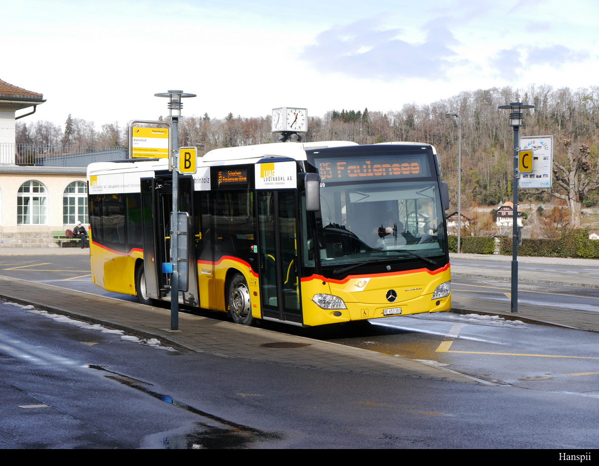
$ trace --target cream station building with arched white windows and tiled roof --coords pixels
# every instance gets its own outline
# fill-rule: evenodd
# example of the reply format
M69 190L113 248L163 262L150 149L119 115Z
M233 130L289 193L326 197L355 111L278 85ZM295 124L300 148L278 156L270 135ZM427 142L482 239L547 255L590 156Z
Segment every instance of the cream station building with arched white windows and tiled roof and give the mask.
M0 248L58 247L52 231L79 220L87 227L87 165L126 158L125 149L77 154L71 147L16 144L16 120L44 102L42 94L0 80Z

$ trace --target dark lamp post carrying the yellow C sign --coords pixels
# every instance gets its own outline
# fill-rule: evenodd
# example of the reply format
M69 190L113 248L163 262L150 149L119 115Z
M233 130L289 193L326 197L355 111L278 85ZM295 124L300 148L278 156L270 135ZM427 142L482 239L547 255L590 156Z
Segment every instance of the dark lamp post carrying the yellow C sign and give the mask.
M510 102L498 108L510 110L510 126L514 129L514 174L513 174L513 207L512 211L512 312L518 312L518 130L522 126L522 110L534 108L534 105L524 105L522 102Z

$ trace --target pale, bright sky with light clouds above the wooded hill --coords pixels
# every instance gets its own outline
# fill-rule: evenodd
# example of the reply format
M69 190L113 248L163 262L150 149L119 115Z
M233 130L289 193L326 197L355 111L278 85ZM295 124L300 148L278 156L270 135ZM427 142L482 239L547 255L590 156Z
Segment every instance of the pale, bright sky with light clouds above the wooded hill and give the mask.
M154 94L170 89L197 95L183 116L322 117L599 84L595 0L0 0L0 11L0 79L47 99L21 121L61 127L69 114L96 128L168 116Z

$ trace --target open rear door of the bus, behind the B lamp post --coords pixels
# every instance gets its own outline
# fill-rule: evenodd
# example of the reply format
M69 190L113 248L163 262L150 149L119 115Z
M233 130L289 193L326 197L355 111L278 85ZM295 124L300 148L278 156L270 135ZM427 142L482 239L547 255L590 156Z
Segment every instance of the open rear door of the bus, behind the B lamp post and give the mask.
M192 214L193 178L179 177L179 211ZM146 289L151 298L170 299L171 274L162 270L162 264L171 263L171 211L173 210L173 180L165 175L141 179L141 202L143 211L143 246ZM184 241L187 244L189 289L179 296L181 304L199 307L198 272L195 267L192 246L193 230ZM181 239L180 239L181 241Z

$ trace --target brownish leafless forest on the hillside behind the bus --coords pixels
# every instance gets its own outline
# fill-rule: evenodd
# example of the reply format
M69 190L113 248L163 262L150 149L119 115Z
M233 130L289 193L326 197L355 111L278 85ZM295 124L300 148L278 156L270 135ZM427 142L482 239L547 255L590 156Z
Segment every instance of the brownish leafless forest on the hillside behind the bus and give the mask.
M554 196L573 208L567 187L576 188L582 207L599 204L597 164L599 147L599 86L571 90L568 87L534 86L479 89L461 92L430 104L406 104L397 111L334 109L324 116L309 116L305 141L347 140L359 144L387 141L418 141L437 148L442 176L449 183L452 204L458 192L458 123L462 121L462 205L494 206L512 199L513 131L509 112L499 105L509 102L533 104L525 111L520 136L553 135ZM162 118L162 117L161 117ZM72 144L78 147L126 146L128 122L94 122L69 115L65 127L38 121L17 122L17 143ZM204 114L179 121L179 145L203 144L206 150L276 142L271 117L241 117L229 113L222 119ZM561 175L562 182L559 182ZM565 183L565 184L564 184ZM582 189L582 183L586 183ZM522 192L523 200L548 202L545 192ZM534 199L533 199L534 198ZM559 201L558 201L559 202Z

